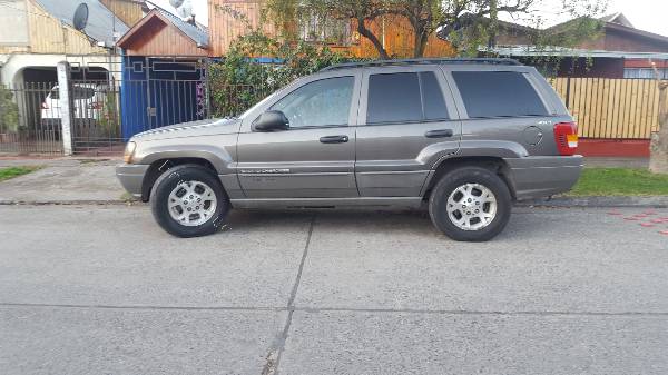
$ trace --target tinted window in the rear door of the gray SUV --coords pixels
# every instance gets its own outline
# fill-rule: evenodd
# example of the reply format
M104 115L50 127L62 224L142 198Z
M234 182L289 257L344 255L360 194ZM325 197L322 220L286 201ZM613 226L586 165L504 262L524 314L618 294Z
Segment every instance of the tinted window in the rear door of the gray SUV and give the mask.
M448 118L443 92L432 71L371 75L366 124Z

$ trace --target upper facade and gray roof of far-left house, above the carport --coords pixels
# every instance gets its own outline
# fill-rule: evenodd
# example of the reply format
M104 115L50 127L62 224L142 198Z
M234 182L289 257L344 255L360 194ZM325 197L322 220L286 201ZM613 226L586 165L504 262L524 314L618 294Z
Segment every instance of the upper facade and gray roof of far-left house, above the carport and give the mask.
M72 20L81 2L89 9L84 32L73 28ZM56 65L63 60L108 70L110 48L141 18L143 7L143 2L134 0L0 2L0 83L55 82Z

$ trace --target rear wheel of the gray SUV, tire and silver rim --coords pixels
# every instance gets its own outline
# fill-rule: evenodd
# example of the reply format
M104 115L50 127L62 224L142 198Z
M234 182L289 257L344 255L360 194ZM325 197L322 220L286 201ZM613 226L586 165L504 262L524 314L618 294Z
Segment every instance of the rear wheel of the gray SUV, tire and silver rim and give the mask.
M505 182L494 172L473 166L444 175L429 200L434 226L461 241L492 239L508 224L511 208Z

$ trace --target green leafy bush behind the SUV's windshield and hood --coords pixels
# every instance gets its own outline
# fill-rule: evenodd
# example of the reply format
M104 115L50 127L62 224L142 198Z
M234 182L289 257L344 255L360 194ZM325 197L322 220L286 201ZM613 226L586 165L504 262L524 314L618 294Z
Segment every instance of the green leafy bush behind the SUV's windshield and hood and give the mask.
M259 63L253 57L271 57L281 62ZM209 66L213 115L239 115L302 76L353 60L358 59L303 41L278 41L261 32L240 37L220 62Z

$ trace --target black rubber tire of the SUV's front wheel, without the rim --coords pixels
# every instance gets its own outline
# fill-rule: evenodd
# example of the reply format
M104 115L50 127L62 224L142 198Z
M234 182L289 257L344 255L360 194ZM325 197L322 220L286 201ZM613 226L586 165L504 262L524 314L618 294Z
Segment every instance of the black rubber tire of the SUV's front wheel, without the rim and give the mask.
M186 226L169 214L169 195L183 181L200 181L208 185L216 195L216 208L212 217L204 224ZM208 168L198 165L183 165L165 171L154 184L150 194L150 206L154 218L163 229L177 237L199 237L214 234L220 229L230 205L218 177Z

